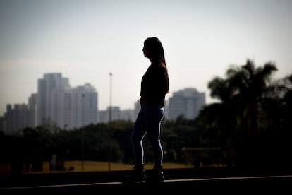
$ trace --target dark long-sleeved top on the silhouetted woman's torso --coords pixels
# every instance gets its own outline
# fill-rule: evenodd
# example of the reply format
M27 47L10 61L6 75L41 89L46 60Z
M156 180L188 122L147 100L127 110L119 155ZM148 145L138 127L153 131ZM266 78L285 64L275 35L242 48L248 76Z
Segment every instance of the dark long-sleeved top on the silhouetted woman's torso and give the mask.
M166 69L151 64L141 81L140 102L145 105L164 105L166 93L169 91L169 77Z

